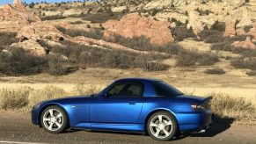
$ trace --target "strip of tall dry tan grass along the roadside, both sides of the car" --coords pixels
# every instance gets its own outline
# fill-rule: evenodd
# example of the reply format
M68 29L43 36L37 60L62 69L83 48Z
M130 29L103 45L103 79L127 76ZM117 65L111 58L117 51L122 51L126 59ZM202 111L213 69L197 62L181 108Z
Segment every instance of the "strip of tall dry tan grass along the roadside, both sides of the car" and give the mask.
M60 87L48 85L42 89L20 88L0 90L0 110L30 110L34 104L42 101L67 96L81 96L97 93L105 85L80 83L72 90L65 91ZM236 124L251 125L256 122L256 99L232 97L223 93L212 93L211 106L220 119L231 119Z

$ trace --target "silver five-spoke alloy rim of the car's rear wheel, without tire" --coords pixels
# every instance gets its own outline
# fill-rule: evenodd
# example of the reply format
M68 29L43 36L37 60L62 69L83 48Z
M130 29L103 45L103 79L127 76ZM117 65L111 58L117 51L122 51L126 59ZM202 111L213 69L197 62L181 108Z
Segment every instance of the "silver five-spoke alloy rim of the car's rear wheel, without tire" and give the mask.
M172 120L165 115L157 115L150 121L150 132L158 139L165 139L172 133Z

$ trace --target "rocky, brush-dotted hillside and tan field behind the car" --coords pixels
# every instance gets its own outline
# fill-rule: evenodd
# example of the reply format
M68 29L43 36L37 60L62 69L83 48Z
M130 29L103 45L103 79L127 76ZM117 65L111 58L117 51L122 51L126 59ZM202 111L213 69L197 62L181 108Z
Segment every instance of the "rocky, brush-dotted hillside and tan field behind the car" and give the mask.
M16 0L0 10L1 79L97 84L154 76L188 91L254 89L255 7L252 0Z

